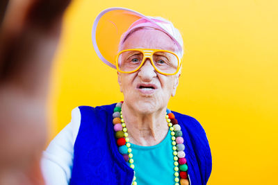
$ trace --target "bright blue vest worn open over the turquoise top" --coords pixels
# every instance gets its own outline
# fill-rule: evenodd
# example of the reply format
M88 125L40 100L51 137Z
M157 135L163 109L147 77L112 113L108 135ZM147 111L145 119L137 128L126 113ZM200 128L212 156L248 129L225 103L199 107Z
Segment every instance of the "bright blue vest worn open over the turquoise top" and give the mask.
M114 107L115 104L95 108L79 107L81 125L74 143L70 184L131 184L133 169L127 166L118 151L114 136ZM206 184L212 166L206 133L195 118L177 112L172 113L179 121L183 132L191 185Z

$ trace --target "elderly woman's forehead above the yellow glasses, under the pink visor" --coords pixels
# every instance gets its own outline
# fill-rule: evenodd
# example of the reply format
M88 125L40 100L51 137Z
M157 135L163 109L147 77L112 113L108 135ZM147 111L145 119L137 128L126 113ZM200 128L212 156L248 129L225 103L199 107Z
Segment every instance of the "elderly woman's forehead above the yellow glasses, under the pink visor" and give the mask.
M164 49L167 51L177 51L177 45L166 33L156 29L136 30L124 41L120 50L124 49Z

